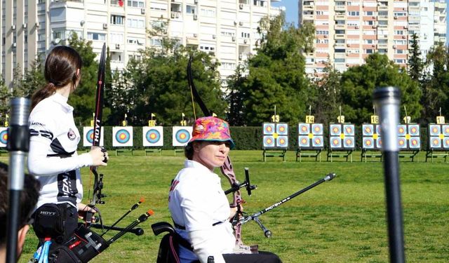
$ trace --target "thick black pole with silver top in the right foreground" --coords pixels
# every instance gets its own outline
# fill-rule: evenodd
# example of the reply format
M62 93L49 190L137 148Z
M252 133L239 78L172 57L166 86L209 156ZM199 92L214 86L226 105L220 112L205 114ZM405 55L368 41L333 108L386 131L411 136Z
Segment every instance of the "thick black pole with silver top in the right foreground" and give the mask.
M398 120L401 93L398 88L377 88L374 103L380 112L382 151L384 154L385 194L390 262L405 262L403 218L398 160Z

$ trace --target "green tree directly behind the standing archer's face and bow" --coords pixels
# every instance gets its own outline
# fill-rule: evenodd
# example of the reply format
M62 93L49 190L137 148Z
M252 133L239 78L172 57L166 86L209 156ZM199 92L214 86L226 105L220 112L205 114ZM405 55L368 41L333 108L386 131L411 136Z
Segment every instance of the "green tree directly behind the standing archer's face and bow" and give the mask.
M69 46L72 46L81 55L83 61L81 82L74 93L70 95L69 104L74 107L75 123L79 126L88 125L95 108L95 90L98 78L98 62L95 61L97 54L93 52L92 41L79 39L74 32L72 32L68 42ZM106 93L105 90L105 97L107 96ZM107 119L109 112L109 108L103 107L103 119Z

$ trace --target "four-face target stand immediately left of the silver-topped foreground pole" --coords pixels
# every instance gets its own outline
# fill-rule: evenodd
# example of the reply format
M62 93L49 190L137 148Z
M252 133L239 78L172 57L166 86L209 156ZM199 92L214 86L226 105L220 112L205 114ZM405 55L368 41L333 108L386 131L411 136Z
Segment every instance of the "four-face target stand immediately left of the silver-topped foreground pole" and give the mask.
M380 124L377 123L363 123L362 125L362 147L361 159L379 158L382 161L382 138L380 137Z

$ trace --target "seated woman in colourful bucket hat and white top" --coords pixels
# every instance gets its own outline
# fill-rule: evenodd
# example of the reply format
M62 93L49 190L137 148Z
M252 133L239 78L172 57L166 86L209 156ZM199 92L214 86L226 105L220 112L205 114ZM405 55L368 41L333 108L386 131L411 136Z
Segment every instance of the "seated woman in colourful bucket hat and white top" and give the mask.
M229 220L236 208L229 203L214 168L225 163L234 141L226 121L203 117L195 121L185 147L185 168L173 180L168 197L175 231L187 245L179 246L180 262L281 262L270 252L234 254L235 237Z

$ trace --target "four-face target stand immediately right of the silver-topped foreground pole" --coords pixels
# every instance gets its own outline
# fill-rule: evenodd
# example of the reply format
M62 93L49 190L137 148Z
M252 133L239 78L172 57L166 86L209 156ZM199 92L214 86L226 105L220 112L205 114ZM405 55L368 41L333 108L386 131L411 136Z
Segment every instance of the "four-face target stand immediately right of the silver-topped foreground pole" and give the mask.
M417 123L398 125L399 158L410 158L412 162L419 162L421 151L420 125Z

